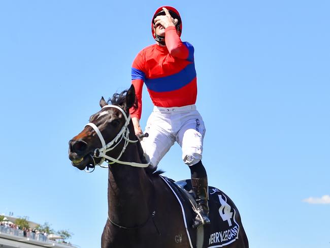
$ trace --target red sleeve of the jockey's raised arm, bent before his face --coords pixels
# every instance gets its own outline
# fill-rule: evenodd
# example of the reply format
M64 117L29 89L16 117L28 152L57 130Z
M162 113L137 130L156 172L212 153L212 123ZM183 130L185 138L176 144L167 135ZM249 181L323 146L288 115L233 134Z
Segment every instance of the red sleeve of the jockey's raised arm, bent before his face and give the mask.
M175 26L169 26L165 29L165 43L172 56L183 59L188 57L188 48L181 41Z

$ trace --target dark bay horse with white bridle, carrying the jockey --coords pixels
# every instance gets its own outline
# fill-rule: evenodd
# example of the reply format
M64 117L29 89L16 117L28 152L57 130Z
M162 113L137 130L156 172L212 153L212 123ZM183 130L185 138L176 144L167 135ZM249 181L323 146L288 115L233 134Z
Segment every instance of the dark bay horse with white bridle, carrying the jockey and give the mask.
M115 94L111 104L102 98L102 109L69 142L69 158L78 169L109 163L108 219L102 248L195 247L196 229L191 227L194 212L187 211L186 218L183 216L182 206L160 176L162 172L148 167L135 135L128 113L129 108L136 106L134 87ZM231 204L235 220L229 205L224 203L217 211L221 209L222 218L229 216L223 219L226 223L233 225L235 221L237 226L206 236L207 245L203 247L247 248L239 212L227 196L223 199ZM218 222L211 213L210 218L211 223Z

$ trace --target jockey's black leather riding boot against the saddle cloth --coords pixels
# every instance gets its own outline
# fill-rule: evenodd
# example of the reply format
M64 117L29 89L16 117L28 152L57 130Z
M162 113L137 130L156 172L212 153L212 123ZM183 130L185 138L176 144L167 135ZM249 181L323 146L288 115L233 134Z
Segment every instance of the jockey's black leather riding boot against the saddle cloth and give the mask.
M197 203L197 214L192 227L199 227L201 225L210 224L209 219L209 195L208 195L208 179L207 177L194 178L191 177L192 190L195 193Z

